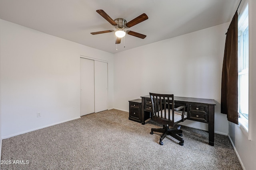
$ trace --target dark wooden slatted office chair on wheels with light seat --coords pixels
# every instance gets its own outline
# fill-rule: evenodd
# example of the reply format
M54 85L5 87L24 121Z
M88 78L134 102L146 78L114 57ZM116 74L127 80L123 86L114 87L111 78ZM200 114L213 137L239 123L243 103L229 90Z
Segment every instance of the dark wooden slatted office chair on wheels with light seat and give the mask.
M152 119L163 125L162 129L152 128L150 134L153 134L153 132L163 133L160 137L160 145L163 145L162 140L167 135L171 135L180 141L179 144L183 146L182 130L180 130L180 125L177 124L186 120L187 116L184 114L186 106L174 108L173 94L149 94L152 103ZM179 110L182 110L182 113L176 112ZM170 129L169 126L173 127L173 129Z

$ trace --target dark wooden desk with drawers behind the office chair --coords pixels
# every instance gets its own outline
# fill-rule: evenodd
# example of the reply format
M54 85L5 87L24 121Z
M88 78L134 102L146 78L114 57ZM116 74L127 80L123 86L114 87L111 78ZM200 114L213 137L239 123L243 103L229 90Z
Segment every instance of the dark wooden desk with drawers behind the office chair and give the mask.
M150 118L152 104L150 96L142 96L141 123ZM174 96L175 107L186 106L187 119L208 123L209 145L214 146L214 106L213 99L186 98Z

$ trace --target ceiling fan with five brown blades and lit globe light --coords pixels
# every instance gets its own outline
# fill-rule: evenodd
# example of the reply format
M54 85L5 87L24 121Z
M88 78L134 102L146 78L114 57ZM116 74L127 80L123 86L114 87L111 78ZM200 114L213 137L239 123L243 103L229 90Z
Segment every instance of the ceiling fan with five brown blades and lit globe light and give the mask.
M145 13L141 14L140 16L138 16L137 18L134 18L133 20L131 20L129 22L126 22L126 20L124 20L123 18L116 18L115 20L112 20L112 18L110 18L110 16L108 16L108 14L106 14L106 12L104 12L103 10L96 10L96 12L98 12L98 14L100 14L103 18L105 18L105 20L107 20L111 25L113 25L116 28L116 30L93 32L93 33L91 33L92 35L115 32L116 44L120 44L122 37L124 37L126 34L129 34L129 35L132 35L132 36L135 36L138 38L142 38L142 39L144 39L146 37L146 35L143 35L141 33L136 33L134 31L130 31L130 30L126 30L126 31L124 30L124 29L130 28L142 21L147 20L148 16Z

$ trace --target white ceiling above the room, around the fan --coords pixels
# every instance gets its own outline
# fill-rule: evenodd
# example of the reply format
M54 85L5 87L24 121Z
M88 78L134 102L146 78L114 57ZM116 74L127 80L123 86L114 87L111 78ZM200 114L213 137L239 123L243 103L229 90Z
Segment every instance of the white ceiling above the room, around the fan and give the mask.
M240 0L0 0L0 18L89 47L117 53L231 21ZM129 28L147 35L125 36L116 51L115 29L96 10L127 22L140 14L148 20Z

